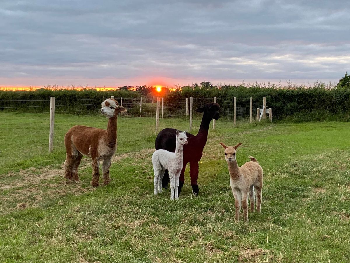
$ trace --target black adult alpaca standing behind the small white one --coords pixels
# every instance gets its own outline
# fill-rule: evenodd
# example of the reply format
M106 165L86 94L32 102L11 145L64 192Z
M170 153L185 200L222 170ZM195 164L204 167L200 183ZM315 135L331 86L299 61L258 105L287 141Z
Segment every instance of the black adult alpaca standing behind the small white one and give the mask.
M207 143L209 124L212 119L219 119L220 106L217 103L207 103L203 107L196 109L196 112L203 112L203 118L198 134L193 135L186 133L188 144L183 147L183 168L181 170L179 179L179 194L181 192L183 183L185 181L185 168L190 163L190 177L192 193L198 195L199 189L197 185L198 179L198 162L203 155L203 148ZM176 129L166 128L160 131L155 139L155 149L165 149L167 151L175 152L176 144ZM165 171L162 186L167 187L169 182L168 170Z

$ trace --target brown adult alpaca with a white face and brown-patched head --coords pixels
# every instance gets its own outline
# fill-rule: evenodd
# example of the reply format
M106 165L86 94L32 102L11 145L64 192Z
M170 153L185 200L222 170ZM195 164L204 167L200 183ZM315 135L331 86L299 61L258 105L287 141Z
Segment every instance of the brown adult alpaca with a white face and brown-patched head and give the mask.
M117 115L118 112L126 112L124 107L118 106L118 102L107 99L102 102L102 115L109 118L107 130L87 127L82 125L73 126L64 137L66 147L66 160L64 162L64 177L71 181L79 181L78 166L83 155L92 158L91 185L99 185L100 159L103 159L102 173L103 183L111 181L109 170L112 156L116 151L117 144Z

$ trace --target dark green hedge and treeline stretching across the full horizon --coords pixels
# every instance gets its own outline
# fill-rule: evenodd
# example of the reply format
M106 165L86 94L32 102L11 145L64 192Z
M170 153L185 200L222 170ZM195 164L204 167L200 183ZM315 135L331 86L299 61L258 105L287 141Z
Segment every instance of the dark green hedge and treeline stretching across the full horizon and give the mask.
M141 94L138 91L132 90L97 91L94 89L79 91L47 89L16 92L0 91L0 110L48 112L51 96L54 96L56 99L56 112L82 114L93 109L99 110L103 98L106 99L107 97L115 96L119 100L122 96L124 98L123 106L127 107L128 112L132 113L139 112L138 98ZM153 92L147 94L148 101L152 99L152 96L159 96L159 93ZM143 97L143 102L146 102L146 97ZM262 107L262 98L266 97L267 106L273 109L274 120L291 120L294 122L321 120L350 121L350 89L348 88L335 87L327 89L322 85L292 89L228 85L217 88L194 85L169 92L165 97L165 103L167 103L167 106L174 108L179 106L181 108L183 106L183 100L186 97L206 99L207 101L216 97L216 100L220 102L220 106L223 108L233 107L234 97L239 102L239 107L249 107L250 97L253 97L254 100L261 100L261 105L259 104L259 106ZM182 100L180 102L180 100L174 99ZM153 111L155 110L154 107L146 104L143 109Z

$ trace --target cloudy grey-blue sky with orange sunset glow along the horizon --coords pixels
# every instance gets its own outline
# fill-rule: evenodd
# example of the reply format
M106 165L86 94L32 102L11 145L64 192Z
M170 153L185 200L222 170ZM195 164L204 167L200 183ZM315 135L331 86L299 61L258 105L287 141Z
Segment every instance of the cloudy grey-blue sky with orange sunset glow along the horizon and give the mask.
M336 82L348 1L1 0L0 86Z

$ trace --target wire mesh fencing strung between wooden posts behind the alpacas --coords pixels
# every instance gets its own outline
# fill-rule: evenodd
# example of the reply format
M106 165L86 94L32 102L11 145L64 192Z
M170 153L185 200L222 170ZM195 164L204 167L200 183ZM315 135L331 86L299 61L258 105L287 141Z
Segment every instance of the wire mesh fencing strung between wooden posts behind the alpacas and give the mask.
M106 129L108 119L100 113L101 102L106 98L88 100L56 100L54 116L54 153L65 151L64 136L69 128L85 125ZM118 115L118 151L123 151L123 144L128 140L148 140L156 132L156 97L115 98L127 109ZM193 98L192 130L196 134L203 113L195 111L214 98ZM233 127L236 124L249 123L251 114L257 120L257 108L262 108L263 99L250 98L234 101L216 101L220 105L220 119L216 120L215 129ZM20 160L30 160L49 149L50 100L2 101L0 107L0 166ZM189 98L160 98L159 127L172 127L189 130ZM235 111L236 108L236 111ZM236 114L234 114L236 113ZM121 118L121 119L120 119ZM209 129L212 129L212 123ZM125 147L126 148L126 147Z

